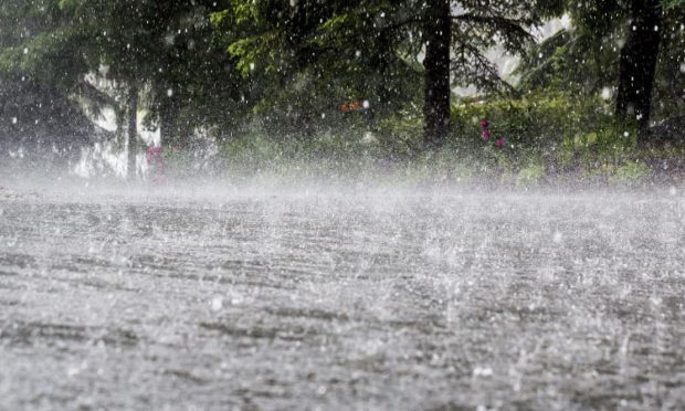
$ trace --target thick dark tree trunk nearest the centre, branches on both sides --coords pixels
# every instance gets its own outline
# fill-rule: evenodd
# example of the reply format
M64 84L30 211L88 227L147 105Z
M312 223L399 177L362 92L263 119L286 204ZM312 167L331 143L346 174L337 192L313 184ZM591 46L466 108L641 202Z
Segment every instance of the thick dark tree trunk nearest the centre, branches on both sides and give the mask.
M426 7L423 139L433 149L444 144L450 129L450 0L428 0Z

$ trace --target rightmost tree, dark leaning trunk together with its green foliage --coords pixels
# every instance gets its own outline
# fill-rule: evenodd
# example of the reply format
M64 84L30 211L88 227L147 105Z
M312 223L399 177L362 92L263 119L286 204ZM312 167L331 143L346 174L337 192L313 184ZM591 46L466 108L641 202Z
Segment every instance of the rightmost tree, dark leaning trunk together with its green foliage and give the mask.
M685 107L682 4L682 0L561 4L552 14L568 12L573 29L558 32L526 54L523 87L570 85L582 94L613 89L618 119L636 123L639 143L649 143L655 109L663 118Z

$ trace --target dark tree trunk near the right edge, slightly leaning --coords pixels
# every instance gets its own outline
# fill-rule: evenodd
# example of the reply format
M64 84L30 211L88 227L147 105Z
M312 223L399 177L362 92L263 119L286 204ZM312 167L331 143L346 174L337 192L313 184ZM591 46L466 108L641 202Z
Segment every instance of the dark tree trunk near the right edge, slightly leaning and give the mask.
M658 0L631 0L631 15L628 38L621 49L616 116L623 120L637 119L637 138L642 145L650 127L652 88L663 30Z

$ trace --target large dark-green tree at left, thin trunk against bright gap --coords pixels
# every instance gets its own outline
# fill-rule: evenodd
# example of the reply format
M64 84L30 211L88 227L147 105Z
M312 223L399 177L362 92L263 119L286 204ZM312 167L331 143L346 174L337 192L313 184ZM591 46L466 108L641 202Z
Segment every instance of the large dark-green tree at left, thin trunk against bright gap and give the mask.
M137 135L130 125L138 123L138 109L130 102L151 108L145 123L157 124L165 146L188 147L196 128L230 123L225 109L235 106L241 84L232 80L236 71L229 55L212 43L209 14L215 3L8 0L0 6L7 23L0 28L0 73L52 89L59 101L85 98L94 113L108 105L126 114L117 124L128 131L134 170ZM123 98L107 98L86 75L112 81Z

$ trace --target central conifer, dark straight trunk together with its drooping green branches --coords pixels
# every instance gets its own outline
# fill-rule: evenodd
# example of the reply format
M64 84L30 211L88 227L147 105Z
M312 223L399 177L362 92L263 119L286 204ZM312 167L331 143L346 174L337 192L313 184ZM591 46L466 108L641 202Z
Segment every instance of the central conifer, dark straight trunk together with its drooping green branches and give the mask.
M534 3L299 0L288 7L284 2L236 0L215 13L213 21L224 33L239 67L246 75L254 75L256 67L280 78L276 84L314 67L312 80L323 83L322 88L331 88L333 81L324 73L334 72L339 78L349 74L350 94L376 88L377 94L397 95L398 89L407 89L397 73L415 71L422 61L424 146L436 148L447 136L453 84L507 88L484 53L495 45L518 51L531 40L525 28L538 21L531 12ZM382 59L361 65L361 55ZM386 70L386 78L392 82L360 81L373 78L379 68ZM392 103L386 103L383 108L391 107Z

